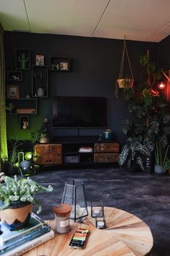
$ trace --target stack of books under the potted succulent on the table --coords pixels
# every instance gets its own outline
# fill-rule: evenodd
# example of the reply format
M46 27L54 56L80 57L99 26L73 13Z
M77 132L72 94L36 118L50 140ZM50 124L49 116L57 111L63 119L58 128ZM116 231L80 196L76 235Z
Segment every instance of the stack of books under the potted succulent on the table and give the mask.
M11 231L1 223L0 255L19 256L54 237L54 231L41 218L32 213L27 226Z

